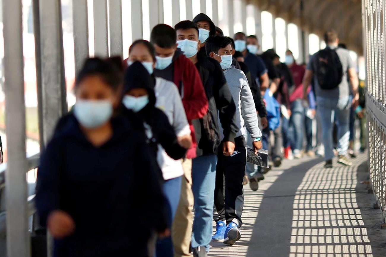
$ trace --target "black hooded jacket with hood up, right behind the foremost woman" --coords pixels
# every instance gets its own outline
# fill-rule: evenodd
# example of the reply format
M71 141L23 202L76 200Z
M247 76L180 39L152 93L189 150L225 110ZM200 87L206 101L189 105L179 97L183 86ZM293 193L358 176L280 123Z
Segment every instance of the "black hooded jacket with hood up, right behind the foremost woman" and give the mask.
M149 103L137 115L144 121L145 126L148 126L147 132L151 131L151 135L147 133L147 136L154 156L157 156L159 143L171 158L181 159L185 156L186 149L179 146L176 133L166 114L155 107L154 84L154 77L149 75L141 62L134 62L127 68L124 78L124 92L133 88L144 88L149 94Z

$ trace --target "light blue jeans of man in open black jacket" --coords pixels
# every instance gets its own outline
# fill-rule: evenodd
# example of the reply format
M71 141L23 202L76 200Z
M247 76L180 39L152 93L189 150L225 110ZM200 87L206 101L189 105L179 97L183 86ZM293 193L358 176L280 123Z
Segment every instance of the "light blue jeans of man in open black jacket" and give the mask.
M216 165L217 155L200 156L192 161L192 191L195 217L191 247L205 246L207 251L212 240Z

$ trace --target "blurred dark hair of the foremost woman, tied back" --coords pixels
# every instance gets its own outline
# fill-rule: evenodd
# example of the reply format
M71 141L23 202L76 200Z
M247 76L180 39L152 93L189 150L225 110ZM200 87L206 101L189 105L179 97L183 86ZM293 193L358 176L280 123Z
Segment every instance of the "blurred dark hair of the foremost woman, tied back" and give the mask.
M103 82L117 91L122 84L122 58L110 57L101 59L99 57L86 59L82 69L78 72L75 80L75 87L89 76L100 76Z

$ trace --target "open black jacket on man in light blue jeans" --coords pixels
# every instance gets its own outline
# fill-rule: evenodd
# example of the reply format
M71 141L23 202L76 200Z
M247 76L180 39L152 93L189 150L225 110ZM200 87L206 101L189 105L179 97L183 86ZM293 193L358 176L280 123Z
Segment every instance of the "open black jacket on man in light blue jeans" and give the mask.
M205 55L197 55L196 67L208 98L208 113L199 120L193 120L198 142L197 156L217 154L220 144L218 118L224 130L224 141L234 142L237 132L235 125L236 106L220 64Z

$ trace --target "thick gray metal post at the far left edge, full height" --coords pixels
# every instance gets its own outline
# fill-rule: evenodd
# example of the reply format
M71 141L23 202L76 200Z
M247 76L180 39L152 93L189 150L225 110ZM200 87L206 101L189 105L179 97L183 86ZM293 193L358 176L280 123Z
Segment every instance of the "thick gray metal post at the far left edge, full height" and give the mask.
M5 74L5 123L8 161L5 171L8 257L29 257L27 160L25 158L24 57L22 1L2 1Z

